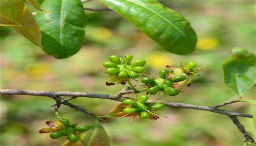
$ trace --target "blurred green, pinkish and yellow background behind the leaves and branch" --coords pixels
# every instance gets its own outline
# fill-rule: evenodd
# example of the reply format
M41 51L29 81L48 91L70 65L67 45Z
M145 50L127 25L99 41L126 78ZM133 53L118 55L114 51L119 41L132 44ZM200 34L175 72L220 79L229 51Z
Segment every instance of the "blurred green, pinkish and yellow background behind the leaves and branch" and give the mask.
M42 2L42 0L38 0ZM150 38L138 31L116 12L86 11L86 41L81 50L67 59L55 59L45 54L11 27L1 31L1 89L38 91L78 91L113 94L125 85L107 87L102 71L103 61L112 54L147 61L148 73L155 74L165 65L196 61L207 70L195 77L191 87L183 87L175 97L162 97L170 102L196 105L216 105L238 96L223 82L222 64L239 46L255 53L255 1L253 0L162 0L161 3L182 14L198 36L197 49L189 55L165 52ZM84 3L86 7L105 7L98 1ZM31 12L35 11L28 5ZM136 82L135 82L136 84ZM127 95L131 96L131 95ZM255 87L244 97L255 96ZM154 99L154 97L150 97ZM71 103L85 105L86 110L105 115L119 102L79 97ZM1 96L1 145L61 145L65 139L50 139L39 134L47 127L45 121L56 120L48 97ZM235 103L222 109L252 114L253 105ZM74 118L84 124L93 123L90 116L65 105L59 109L62 118ZM103 126L113 145L242 145L242 133L229 117L206 111L166 108L159 120L112 118ZM245 129L255 133L252 119L238 117Z

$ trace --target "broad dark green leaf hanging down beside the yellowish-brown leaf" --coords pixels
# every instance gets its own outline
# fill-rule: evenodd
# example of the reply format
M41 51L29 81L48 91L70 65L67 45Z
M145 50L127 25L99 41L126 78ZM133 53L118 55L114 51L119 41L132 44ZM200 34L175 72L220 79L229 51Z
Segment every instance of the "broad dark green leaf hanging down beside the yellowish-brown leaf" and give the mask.
M51 12L38 12L36 15L45 53L58 59L76 54L83 45L85 35L86 16L81 1L45 0L41 6Z

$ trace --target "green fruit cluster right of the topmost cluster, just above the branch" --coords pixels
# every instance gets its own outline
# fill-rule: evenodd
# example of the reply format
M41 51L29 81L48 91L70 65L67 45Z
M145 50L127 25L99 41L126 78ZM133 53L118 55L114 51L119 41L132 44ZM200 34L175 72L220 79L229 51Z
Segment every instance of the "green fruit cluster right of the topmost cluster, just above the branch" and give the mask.
M168 76L169 70L161 69L159 78L144 77L141 81L148 85L147 92L150 94L157 94L159 91L163 91L170 96L178 95L179 91L173 88L173 82L184 81L186 77L180 75L169 79Z

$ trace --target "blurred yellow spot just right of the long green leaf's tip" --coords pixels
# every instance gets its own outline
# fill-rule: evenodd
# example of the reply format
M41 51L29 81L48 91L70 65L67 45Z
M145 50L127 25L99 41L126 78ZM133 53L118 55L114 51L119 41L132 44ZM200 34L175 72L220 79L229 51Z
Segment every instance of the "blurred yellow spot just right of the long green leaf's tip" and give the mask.
M201 50L211 50L218 46L219 42L215 38L200 38L196 47Z

